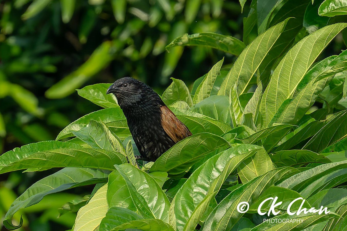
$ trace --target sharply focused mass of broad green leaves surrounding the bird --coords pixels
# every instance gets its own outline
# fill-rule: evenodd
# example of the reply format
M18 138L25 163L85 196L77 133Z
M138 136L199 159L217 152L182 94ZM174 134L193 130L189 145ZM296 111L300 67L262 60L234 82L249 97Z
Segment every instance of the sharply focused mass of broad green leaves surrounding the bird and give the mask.
M231 68L220 60L190 90L172 78L162 99L193 135L154 163L136 162L124 114L115 97L106 95L110 84L78 90L104 109L70 123L56 140L1 155L0 173L62 168L26 189L8 209L4 225L22 226L26 221L16 212L50 194L95 185L59 209L61 217L77 212L72 230L346 229L347 51L322 52L344 34L347 23L339 15L347 4L266 3L252 1L243 42L222 34L182 33L167 46L208 45L238 58ZM113 44L104 42L97 54L108 53ZM257 207L275 196L283 203L271 217L302 222L263 223L269 217L257 214ZM323 206L331 213L288 215L287 206L298 197L306 199L306 208ZM239 202L249 203L247 213L237 211ZM263 212L270 205L263 205Z

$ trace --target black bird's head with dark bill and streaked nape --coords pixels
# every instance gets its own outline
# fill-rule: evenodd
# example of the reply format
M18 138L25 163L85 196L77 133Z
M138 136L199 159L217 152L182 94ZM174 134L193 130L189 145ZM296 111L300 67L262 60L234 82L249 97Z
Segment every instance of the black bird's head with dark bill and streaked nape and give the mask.
M118 105L123 110L146 104L163 104L159 95L150 86L131 77L116 80L106 93L113 93L117 98Z

